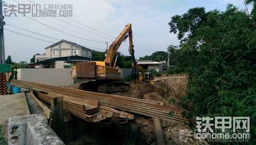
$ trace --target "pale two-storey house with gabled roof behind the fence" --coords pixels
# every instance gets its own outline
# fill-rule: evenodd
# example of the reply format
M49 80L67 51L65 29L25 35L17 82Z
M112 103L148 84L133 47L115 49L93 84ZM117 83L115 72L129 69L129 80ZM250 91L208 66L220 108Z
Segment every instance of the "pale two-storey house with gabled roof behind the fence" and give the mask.
M90 60L92 51L87 47L62 39L45 47L45 53L35 54L35 63L30 63L30 66L35 68L65 68L69 65L65 63L67 60Z

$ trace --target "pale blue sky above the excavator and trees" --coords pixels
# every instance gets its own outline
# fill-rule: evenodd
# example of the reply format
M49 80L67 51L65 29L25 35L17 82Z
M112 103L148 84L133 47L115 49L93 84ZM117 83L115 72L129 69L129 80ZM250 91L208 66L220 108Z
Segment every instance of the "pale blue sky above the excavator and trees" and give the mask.
M15 0L22 4L31 4L25 0ZM38 21L45 23L46 25L58 28L66 33L76 35L86 39L93 39L102 42L108 42L111 44L114 38L118 36L126 23L132 23L134 50L136 58L144 55L150 55L155 51L166 51L169 45L178 45L179 41L177 36L169 33L168 22L175 14L183 14L188 9L193 7L205 7L206 11L213 9L225 10L228 3L234 4L239 9L245 9L243 0L224 0L224 1L157 1L157 0L141 0L141 1L121 1L121 0L62 0L62 1L42 1L42 0L30 0L37 4L73 4L73 17L71 19L79 21L86 26L93 29L97 29L102 33L106 33L112 37L101 34L88 27L80 25L74 21L58 18L63 21L73 23L74 25L81 27L82 29L70 26L67 23L55 20L53 18L35 18ZM9 4L17 4L12 0L6 0ZM249 10L251 10L249 6ZM81 13L78 13L78 12ZM30 16L30 15L29 15ZM91 19L93 18L93 19ZM4 19L6 23L14 26L22 27L30 31L47 35L58 39L66 39L68 41L75 42L84 46L92 46L99 48L100 51L106 49L106 44L94 43L85 41L66 34L62 34L49 27L39 24L36 21L30 20L26 17L22 17L18 14L18 17L6 17ZM102 23L104 25L102 25ZM61 26L60 26L61 25ZM35 34L28 33L23 30L19 30L10 26L5 28L17 31L18 33L26 34L29 36L45 39L46 41L57 42L57 40L37 36ZM68 28L68 29L67 29ZM89 30L97 35L88 33L85 30ZM36 53L45 53L44 48L51 45L48 42L42 42L36 39L27 38L18 34L11 33L5 30L5 55L11 55L12 60L27 61ZM101 35L103 37L99 37ZM114 38L113 38L114 37ZM129 55L127 42L119 48L119 52Z

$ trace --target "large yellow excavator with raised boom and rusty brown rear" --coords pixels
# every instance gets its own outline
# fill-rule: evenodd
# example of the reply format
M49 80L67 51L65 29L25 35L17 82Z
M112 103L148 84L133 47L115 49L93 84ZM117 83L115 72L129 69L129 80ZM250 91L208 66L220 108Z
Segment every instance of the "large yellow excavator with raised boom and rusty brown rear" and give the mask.
M109 46L104 61L73 62L72 77L85 80L84 82L76 83L75 87L81 90L100 93L128 91L130 85L120 81L121 74L116 68L117 59L114 60L119 46L127 37L129 37L129 53L132 55L133 61L132 77L138 78L137 69L139 69L141 71L139 79L144 80L145 72L142 67L136 64L134 57L132 25L128 23L121 34Z

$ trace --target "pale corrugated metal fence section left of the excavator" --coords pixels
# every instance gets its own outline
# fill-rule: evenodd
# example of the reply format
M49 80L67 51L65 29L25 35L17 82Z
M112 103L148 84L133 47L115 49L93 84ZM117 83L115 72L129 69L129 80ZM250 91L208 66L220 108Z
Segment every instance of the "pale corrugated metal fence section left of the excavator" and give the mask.
M52 86L74 85L70 68L21 68L17 69L20 80Z

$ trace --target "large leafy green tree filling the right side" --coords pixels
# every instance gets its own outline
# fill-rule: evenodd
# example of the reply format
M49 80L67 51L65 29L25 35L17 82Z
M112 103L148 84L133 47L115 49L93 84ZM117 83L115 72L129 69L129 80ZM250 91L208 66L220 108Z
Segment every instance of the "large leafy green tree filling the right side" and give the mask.
M196 116L250 116L251 139L256 135L256 25L251 14L228 5L225 11L204 7L174 15L170 32L180 39L169 47L174 67L186 72L189 86L182 106ZM234 143L236 144L236 143Z

